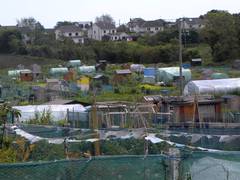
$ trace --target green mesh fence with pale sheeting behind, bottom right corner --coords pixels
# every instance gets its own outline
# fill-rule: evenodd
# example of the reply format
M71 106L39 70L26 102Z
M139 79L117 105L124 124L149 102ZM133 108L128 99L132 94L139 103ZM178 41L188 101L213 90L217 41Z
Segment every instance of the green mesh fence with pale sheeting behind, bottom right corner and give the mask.
M238 180L240 152L194 152L183 155L180 179Z

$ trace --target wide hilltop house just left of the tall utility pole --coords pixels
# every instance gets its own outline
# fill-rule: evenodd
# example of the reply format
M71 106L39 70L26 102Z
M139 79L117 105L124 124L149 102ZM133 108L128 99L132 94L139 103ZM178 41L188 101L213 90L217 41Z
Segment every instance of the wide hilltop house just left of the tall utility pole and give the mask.
M162 19L145 21L141 18L135 18L130 19L128 27L131 32L155 34L164 30L165 23L166 22Z

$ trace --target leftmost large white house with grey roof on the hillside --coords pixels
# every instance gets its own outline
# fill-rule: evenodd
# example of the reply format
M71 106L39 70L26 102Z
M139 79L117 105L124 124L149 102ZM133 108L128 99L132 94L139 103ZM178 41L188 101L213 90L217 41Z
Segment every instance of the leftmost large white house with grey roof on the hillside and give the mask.
M83 28L77 25L65 25L60 26L55 29L56 40L61 40L62 38L71 38L74 43L84 44L87 38L86 32Z

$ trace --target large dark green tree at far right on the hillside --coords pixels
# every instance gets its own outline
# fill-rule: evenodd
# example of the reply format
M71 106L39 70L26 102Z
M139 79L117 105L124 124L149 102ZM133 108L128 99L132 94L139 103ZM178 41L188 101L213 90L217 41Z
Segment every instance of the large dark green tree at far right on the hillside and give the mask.
M205 17L206 25L201 35L212 50L214 61L238 57L238 34L233 15L226 11L210 11Z

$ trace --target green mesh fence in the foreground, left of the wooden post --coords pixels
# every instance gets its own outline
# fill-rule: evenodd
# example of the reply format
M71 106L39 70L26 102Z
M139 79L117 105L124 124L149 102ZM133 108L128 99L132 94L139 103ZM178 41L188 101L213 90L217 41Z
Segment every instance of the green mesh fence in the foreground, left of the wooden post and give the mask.
M165 179L163 156L97 157L73 161L56 161L0 165L4 180L79 180L79 179Z

